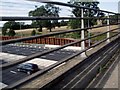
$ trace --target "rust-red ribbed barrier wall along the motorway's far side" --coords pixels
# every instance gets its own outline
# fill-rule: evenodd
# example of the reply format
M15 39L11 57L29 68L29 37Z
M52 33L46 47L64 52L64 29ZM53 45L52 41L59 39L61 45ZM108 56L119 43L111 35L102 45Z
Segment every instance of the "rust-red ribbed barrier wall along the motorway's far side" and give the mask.
M9 36L0 36L0 40L9 40L16 39L21 37L9 37ZM75 42L76 40L64 39L64 38L54 38L54 37L45 37L45 38L37 38L33 40L23 41L24 43L35 43L35 44L52 44L52 45L65 45L71 42ZM81 46L80 43L77 43L73 46ZM88 47L88 43L85 43L85 46Z

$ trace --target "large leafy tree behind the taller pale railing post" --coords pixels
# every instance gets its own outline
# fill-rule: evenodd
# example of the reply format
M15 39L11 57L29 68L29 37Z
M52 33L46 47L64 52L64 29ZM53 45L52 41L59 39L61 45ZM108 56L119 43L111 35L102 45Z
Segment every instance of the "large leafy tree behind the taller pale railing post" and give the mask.
M96 0L86 0L86 1L79 0L77 2L76 2L76 0L70 0L70 2L68 2L68 3L76 5L76 6L89 7L89 8L99 10L99 7L98 7L99 2ZM96 16L102 17L102 16L104 16L104 13L97 11L97 10L84 9L84 17L96 17ZM75 17L81 17L81 8L76 8L76 7L72 8L72 13L74 14ZM88 27L88 26L93 26L97 20L90 19L89 22L88 22L88 20L84 20L84 21L85 21L85 27ZM79 26L78 26L78 28L79 28Z

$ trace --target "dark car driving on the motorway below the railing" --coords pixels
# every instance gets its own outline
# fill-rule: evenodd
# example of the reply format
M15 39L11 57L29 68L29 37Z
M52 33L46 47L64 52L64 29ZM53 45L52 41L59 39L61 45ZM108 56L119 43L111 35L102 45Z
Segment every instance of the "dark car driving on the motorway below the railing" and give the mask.
M33 63L22 63L17 66L17 71L26 72L29 75L38 70L38 65Z

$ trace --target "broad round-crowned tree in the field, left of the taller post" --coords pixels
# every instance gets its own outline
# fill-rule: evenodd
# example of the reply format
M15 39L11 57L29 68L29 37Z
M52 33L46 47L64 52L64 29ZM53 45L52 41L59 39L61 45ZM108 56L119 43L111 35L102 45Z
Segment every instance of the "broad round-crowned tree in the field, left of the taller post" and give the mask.
M59 7L56 7L53 4L46 4L45 6L42 5L39 8L30 11L29 16L59 17L59 11ZM52 22L53 21L51 20L34 20L32 23L39 28L39 31L42 31L42 27L46 27L51 31Z

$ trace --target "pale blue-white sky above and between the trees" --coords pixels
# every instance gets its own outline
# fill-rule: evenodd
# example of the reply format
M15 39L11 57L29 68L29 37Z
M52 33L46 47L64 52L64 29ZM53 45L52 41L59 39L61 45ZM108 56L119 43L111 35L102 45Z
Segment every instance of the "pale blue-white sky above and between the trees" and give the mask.
M70 0L52 0L67 3ZM118 1L120 0L98 0L100 4L98 5L100 9L118 12ZM28 0L0 0L0 16L28 16L28 12L35 9L35 6L40 6L39 2L32 2ZM62 10L60 16L71 15L70 8L60 7ZM0 27L3 26L5 22L0 21ZM26 22L27 24L30 21Z

